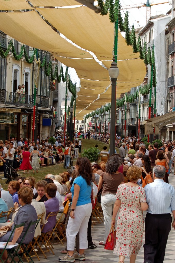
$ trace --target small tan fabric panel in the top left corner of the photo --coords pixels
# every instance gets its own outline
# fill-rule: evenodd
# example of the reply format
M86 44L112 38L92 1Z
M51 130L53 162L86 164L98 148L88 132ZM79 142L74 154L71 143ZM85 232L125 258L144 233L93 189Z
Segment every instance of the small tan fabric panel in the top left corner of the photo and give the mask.
M0 0L0 10L32 9L25 0Z

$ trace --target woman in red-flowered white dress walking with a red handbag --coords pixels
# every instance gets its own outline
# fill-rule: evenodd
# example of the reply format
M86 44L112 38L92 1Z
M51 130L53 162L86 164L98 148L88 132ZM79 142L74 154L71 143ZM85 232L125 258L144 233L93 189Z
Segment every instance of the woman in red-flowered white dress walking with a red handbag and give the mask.
M111 225L115 225L115 217L121 205L113 253L119 254L119 262L124 263L125 257L130 257L130 263L135 263L143 239L142 212L148 209L148 204L144 188L137 184L141 178L139 167L129 167L127 177L130 182L118 186L112 215Z

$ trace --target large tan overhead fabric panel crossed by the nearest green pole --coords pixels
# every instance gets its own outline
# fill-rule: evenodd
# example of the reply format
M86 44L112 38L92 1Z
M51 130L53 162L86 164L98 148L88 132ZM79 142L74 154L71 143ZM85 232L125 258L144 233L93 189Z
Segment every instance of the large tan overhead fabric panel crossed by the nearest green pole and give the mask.
M94 15L85 6L68 9L37 8L59 32L82 48L92 51L99 60L112 58L114 28L109 15ZM66 18L66 22L65 22ZM118 31L118 59L138 58Z

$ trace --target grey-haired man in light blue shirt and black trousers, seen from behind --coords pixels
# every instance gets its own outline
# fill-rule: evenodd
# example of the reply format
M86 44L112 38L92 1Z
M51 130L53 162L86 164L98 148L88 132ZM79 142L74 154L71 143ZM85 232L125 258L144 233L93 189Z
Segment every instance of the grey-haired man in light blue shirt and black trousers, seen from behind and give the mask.
M171 212L175 229L175 190L163 181L165 172L163 165L154 166L154 182L144 187L149 206L145 218L144 263L163 263L171 230Z

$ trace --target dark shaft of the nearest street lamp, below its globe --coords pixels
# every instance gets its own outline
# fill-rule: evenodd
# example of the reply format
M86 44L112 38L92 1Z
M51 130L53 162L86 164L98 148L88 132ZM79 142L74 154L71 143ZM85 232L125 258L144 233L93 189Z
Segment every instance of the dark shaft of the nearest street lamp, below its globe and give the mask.
M111 130L110 130L110 151L109 155L115 153L115 139L116 139L116 84L117 79L111 79Z

